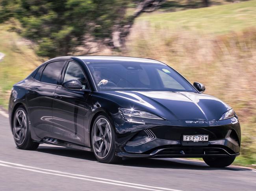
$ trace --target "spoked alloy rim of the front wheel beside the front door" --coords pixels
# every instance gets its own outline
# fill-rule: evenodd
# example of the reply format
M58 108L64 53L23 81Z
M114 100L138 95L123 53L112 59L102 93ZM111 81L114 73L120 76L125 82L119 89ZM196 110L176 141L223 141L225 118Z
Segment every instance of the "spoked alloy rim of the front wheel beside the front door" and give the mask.
M105 118L100 118L93 128L93 149L98 158L105 158L111 146L111 128Z

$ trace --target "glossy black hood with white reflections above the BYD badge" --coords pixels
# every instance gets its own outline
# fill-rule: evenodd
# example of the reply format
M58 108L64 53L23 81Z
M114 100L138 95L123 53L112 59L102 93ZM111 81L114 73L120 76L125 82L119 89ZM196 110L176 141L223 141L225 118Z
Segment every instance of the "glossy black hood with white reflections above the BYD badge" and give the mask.
M221 100L194 92L106 91L120 107L140 109L166 120L219 120L231 109Z

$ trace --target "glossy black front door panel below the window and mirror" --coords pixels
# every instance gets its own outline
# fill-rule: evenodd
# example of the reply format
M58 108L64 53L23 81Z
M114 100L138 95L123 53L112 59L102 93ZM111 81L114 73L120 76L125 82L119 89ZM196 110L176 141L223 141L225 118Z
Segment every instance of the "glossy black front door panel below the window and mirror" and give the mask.
M88 111L85 107L88 95L89 91L56 89L52 118L54 138L83 145L83 119Z

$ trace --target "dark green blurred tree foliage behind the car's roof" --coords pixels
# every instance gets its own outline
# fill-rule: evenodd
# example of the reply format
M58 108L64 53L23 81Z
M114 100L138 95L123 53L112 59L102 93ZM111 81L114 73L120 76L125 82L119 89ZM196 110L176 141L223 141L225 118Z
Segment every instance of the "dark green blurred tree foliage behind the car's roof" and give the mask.
M16 18L40 56L69 55L87 39L124 46L135 18L164 0L1 0L0 22ZM127 5L137 7L126 16Z

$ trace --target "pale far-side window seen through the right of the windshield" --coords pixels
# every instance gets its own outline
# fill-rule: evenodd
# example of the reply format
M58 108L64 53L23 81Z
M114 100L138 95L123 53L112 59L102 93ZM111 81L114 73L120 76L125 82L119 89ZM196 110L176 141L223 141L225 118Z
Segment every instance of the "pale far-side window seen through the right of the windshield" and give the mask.
M168 75L167 73L170 73L170 71L166 70L166 72L157 69L158 74L161 78L161 81L163 82L163 87L170 88L170 89L180 89L184 90L185 88L177 82L172 76Z

